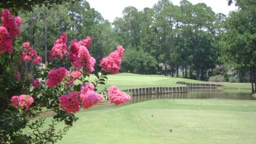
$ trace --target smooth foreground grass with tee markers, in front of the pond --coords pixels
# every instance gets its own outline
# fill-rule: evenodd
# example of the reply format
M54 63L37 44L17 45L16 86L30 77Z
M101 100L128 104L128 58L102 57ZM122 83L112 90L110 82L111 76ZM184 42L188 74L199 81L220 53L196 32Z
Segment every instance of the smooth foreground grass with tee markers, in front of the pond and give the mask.
M98 108L77 113L59 143L256 142L255 100L158 99Z

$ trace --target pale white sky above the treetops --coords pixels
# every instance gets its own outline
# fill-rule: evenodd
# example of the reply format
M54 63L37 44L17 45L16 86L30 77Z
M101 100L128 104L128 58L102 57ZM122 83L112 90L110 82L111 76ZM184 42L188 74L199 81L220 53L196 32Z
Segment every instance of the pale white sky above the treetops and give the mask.
M134 6L139 11L145 7L152 8L158 0L86 0L90 6L100 12L104 19L113 22L116 17L122 17L124 7ZM171 0L174 5L179 5L181 0ZM230 11L237 9L235 4L228 6L227 0L188 0L190 3L205 3L212 7L215 13L223 13L228 15Z

